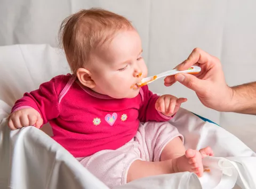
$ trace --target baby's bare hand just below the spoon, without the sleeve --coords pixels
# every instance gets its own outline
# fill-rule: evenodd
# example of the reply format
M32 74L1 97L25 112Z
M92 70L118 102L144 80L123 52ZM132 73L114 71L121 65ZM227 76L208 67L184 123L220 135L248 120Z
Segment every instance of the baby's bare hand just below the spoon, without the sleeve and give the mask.
M177 98L172 95L160 96L156 101L156 110L162 112L165 116L171 117L178 112L181 103L186 102L187 98Z

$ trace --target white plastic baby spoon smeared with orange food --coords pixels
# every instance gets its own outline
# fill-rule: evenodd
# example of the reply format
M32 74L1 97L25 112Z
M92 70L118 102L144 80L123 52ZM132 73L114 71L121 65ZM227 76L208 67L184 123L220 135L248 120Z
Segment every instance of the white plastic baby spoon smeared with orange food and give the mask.
M190 67L188 70L183 70L183 71L180 71L180 70L177 70L177 69L173 69L173 70L169 70L169 71L165 71L165 72L162 72L162 73L159 73L158 75L156 76L151 76L151 77L146 77L146 78L143 78L139 84L137 84L138 87L142 87L144 85L148 85L150 84L151 82L155 81L156 79L159 79L161 77L166 77L166 76L172 76L172 75L175 75L177 73L190 73L190 74L197 74L201 71L201 68L198 67L198 66L193 66L193 67Z

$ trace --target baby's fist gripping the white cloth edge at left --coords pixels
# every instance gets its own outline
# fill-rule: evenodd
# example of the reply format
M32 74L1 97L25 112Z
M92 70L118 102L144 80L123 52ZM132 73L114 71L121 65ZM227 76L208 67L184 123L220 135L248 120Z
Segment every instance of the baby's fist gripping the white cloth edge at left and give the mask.
M8 126L11 130L20 129L29 125L39 128L43 124L41 115L34 108L25 108L13 112L8 118Z

